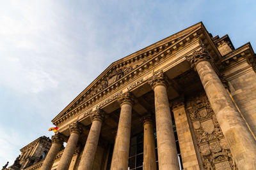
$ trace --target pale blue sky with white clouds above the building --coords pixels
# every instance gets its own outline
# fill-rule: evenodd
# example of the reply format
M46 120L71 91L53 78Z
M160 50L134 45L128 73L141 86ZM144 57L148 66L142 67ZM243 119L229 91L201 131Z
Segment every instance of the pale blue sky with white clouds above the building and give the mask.
M202 21L256 49L256 1L1 1L0 167L115 60Z

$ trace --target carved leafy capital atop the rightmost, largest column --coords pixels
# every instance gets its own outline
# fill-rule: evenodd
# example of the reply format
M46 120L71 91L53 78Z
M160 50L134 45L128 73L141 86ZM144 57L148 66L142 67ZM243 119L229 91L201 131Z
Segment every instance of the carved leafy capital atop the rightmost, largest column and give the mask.
M202 60L212 60L209 53L207 52L207 48L205 48L204 45L201 45L201 47L202 48L200 50L196 50L192 55L186 56L186 60L191 63L191 67L195 67L196 64Z

